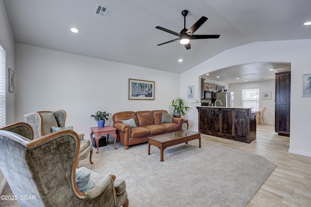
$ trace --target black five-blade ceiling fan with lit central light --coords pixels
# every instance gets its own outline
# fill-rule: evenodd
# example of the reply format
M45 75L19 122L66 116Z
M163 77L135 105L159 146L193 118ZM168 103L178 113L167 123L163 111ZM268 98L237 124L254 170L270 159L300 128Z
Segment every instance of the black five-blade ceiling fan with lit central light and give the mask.
M161 44L158 44L158 46L160 45L164 45L170 42L174 42L176 40L179 40L180 44L185 45L186 49L189 50L190 47L190 39L213 39L213 38L219 38L220 35L193 35L193 33L199 29L199 27L202 26L202 24L204 24L204 22L207 20L207 17L202 16L197 22L195 22L195 24L192 25L192 27L190 27L189 30L186 29L186 16L188 15L188 10L183 10L181 12L182 16L184 16L184 29L182 29L180 31L180 33L176 33L173 32L171 30L165 29L163 27L160 26L156 26L156 29L162 30L164 32L170 33L172 35L176 35L179 36L179 38L167 41L167 42L163 42Z

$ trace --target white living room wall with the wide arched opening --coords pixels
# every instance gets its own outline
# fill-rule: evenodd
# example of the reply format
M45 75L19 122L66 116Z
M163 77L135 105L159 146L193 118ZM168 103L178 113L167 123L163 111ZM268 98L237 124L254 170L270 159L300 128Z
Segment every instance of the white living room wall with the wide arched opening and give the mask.
M311 97L302 97L302 74L311 73L311 39L254 42L232 48L181 74L181 97L187 100L187 86L194 85L199 97L199 76L225 67L256 62L291 63L291 126L289 152L311 156ZM189 100L187 100L189 101ZM190 129L198 130L198 111L190 108Z

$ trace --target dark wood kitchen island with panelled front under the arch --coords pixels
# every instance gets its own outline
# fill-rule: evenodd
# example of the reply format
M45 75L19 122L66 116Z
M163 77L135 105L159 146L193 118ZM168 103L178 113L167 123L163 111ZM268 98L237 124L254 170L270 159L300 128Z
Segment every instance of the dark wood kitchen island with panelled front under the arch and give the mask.
M197 106L199 132L245 143L256 139L256 112L252 108Z

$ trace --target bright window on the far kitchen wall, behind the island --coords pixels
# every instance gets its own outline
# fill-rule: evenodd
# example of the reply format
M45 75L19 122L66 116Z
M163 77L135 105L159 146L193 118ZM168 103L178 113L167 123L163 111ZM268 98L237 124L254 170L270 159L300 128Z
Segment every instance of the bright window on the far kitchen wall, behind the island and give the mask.
M259 88L242 89L242 105L252 108L252 111L259 111Z

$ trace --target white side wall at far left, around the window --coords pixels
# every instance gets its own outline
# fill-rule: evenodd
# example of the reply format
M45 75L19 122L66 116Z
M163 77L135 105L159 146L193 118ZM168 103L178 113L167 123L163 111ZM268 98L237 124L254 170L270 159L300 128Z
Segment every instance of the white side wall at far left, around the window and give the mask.
M14 71L15 41L6 15L3 0L0 0L0 45L6 51L6 72L8 72L8 68L13 69ZM8 91L8 84L6 84L6 124L10 124L15 121L15 93L9 93ZM4 187L4 184L4 175L0 170L0 192Z

